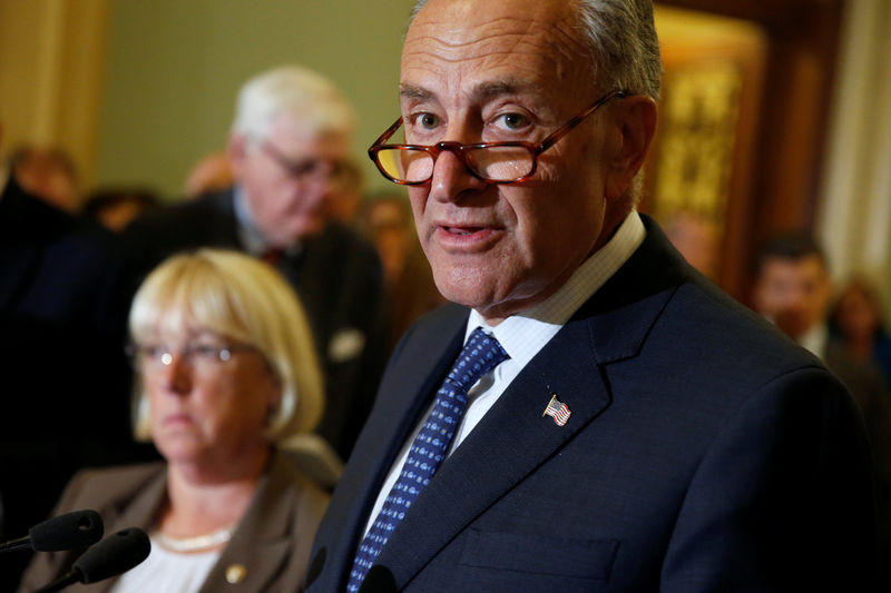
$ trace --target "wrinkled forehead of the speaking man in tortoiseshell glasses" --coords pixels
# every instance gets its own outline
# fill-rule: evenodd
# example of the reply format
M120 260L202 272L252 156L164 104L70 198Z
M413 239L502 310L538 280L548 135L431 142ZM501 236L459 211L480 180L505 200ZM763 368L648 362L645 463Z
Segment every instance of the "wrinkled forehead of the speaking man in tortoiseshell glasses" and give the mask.
M587 96L593 69L576 19L566 0L431 0L405 36L402 93Z

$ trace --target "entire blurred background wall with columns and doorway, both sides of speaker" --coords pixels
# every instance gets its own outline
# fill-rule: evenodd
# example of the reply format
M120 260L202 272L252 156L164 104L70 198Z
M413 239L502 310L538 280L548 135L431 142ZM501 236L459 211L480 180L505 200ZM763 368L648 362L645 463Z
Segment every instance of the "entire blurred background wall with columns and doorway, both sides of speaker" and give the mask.
M369 190L386 188L365 148L398 113L411 4L0 0L0 151L57 145L84 192L143 184L177 199L192 165L225 146L242 82L294 61L354 102L355 158ZM891 2L656 7L665 86L640 209L708 218L713 277L741 300L758 241L797 227L836 278L866 271L891 302Z

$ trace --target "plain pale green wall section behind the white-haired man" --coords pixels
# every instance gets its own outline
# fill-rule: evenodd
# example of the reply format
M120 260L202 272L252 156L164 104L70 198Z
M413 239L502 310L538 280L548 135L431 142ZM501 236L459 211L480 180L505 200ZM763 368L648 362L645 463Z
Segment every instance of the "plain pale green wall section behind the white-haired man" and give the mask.
M359 112L353 151L398 116L399 55L413 0L112 0L97 185L176 198L198 158L225 147L235 95L285 62L339 85Z

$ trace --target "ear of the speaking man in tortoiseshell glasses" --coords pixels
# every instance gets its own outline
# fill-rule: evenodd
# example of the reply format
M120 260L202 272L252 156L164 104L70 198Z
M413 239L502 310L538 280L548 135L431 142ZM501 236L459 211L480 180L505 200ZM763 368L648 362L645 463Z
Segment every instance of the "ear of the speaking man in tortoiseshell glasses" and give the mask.
M624 197L635 175L644 166L656 131L656 102L644 95L633 95L611 106L613 127L607 137L606 197Z

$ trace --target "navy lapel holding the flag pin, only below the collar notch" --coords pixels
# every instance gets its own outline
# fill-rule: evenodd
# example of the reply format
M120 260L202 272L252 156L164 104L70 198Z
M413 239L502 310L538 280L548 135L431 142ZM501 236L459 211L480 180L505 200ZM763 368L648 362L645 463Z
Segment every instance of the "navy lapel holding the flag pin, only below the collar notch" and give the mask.
M567 348L580 352L567 356ZM542 417L555 393L571 409L562 427ZM384 546L378 564L392 571L398 585L404 585L486 507L587 426L609 401L591 356L587 324L568 324L442 464ZM473 480L469 487L468 476L484 478Z

